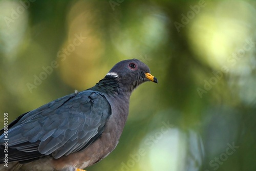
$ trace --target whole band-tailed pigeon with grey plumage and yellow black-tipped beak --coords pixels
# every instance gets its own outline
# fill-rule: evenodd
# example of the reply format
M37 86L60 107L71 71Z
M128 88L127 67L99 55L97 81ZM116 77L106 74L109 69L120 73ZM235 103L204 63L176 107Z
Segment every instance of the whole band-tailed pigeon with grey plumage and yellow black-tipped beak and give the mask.
M145 81L158 82L140 60L123 60L94 87L20 115L8 126L8 153L0 131L0 169L74 171L100 161L116 147L130 95Z

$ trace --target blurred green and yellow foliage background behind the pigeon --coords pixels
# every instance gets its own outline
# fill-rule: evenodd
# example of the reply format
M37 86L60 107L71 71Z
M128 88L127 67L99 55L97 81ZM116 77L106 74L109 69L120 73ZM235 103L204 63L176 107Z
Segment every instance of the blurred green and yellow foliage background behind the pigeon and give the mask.
M0 0L0 126L145 62L113 153L87 170L255 170L255 1Z

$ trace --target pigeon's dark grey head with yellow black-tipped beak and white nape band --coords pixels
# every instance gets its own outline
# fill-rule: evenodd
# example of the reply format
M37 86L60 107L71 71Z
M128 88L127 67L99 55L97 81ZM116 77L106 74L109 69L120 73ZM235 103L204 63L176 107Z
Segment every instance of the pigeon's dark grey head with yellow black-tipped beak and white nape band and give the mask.
M143 82L158 82L157 78L150 74L150 69L138 59L122 60L118 62L105 77L117 78L124 90L130 92Z

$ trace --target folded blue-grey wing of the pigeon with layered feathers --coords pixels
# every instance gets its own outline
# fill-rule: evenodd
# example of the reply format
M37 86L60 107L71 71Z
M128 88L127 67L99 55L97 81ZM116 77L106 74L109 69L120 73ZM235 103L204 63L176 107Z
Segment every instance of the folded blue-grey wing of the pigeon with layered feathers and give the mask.
M28 161L45 155L57 159L81 151L99 138L110 115L108 100L98 92L83 91L54 100L9 128L8 160Z

